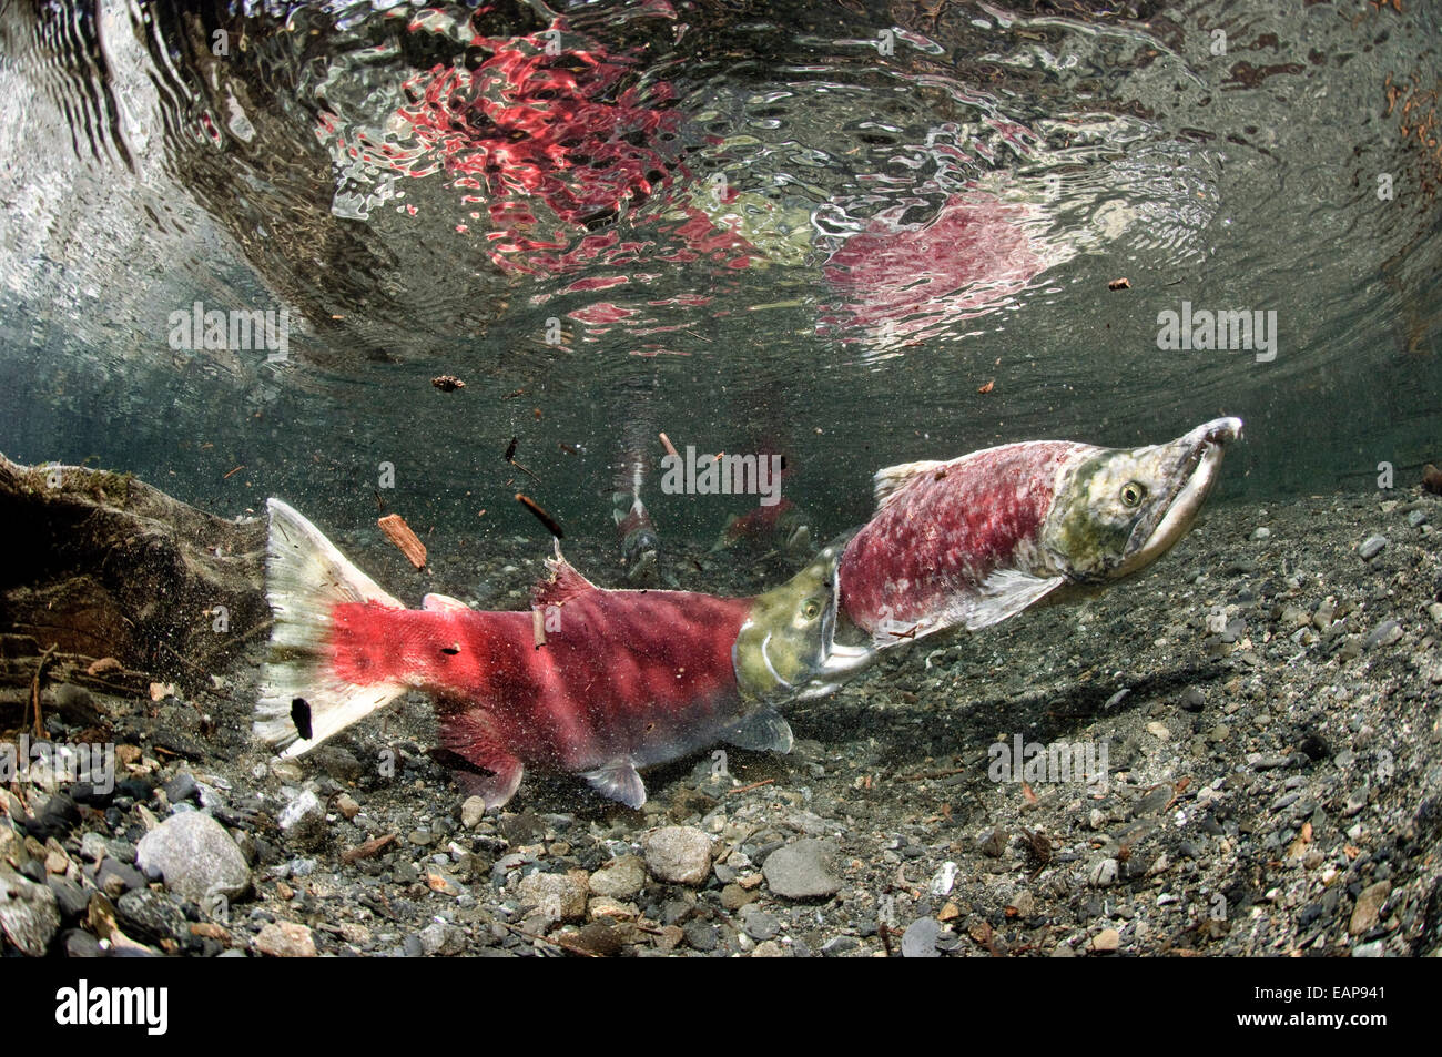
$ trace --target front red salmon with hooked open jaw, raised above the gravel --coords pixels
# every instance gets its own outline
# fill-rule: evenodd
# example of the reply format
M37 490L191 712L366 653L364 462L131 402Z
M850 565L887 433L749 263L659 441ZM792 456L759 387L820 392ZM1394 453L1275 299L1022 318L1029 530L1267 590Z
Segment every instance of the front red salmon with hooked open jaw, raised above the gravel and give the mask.
M880 509L841 560L841 610L884 647L1129 575L1185 535L1240 430L1218 418L1145 448L1027 441L881 470Z

